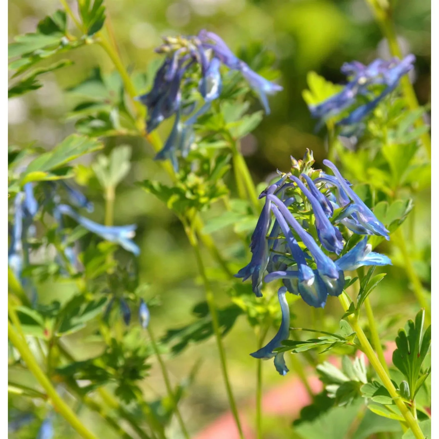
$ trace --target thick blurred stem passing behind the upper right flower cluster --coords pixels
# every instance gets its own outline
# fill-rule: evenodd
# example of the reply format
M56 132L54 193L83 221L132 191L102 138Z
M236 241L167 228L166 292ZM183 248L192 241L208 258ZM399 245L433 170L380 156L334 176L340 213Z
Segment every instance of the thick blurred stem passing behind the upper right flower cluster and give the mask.
M389 42L390 52L393 56L398 57L399 59L403 58L401 53L401 49L398 45L398 40L396 38L396 30L395 25L392 22L392 18L390 16L389 8L385 9L379 4L377 0L366 0L367 4L371 7L375 18L378 22L378 25L381 28L381 32ZM410 83L410 79L408 75L403 76L401 78L401 86L403 89L404 98L407 102L410 110L417 110L419 108L419 104L417 101L416 93L414 91L413 85ZM414 122L416 127L425 126L424 120L422 116ZM432 156L432 140L428 133L424 133L421 136L421 141L424 144L425 150L427 151L428 157Z

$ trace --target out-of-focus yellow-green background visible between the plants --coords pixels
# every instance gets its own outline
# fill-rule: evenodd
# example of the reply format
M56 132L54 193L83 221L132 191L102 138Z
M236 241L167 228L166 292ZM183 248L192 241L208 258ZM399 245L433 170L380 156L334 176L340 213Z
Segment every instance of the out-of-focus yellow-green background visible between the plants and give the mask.
M70 3L74 9L75 2ZM105 3L123 61L131 71L146 71L148 64L158 59L153 49L160 44L161 36L193 34L202 28L217 32L234 51L259 42L274 54L275 68L280 72L278 82L284 91L270 97L271 114L242 145L256 183L269 178L276 169L288 170L290 155L300 158L305 148L313 150L317 165L325 158L325 134L323 131L314 133L315 122L302 99L307 72L314 70L333 82L342 83L344 77L339 69L343 62L355 59L368 63L377 57L389 57L387 45L364 0L107 0ZM430 101L430 2L397 0L393 3L396 3L394 20L403 52L417 57L412 79L420 103L425 104ZM56 0L10 1L9 42L15 35L32 32L41 18L59 7ZM112 64L100 47L95 46L68 52L68 57L75 61L74 65L43 76L43 88L9 101L10 145L36 142L52 148L74 132L74 122L67 116L77 101L64 90L85 79L95 66L101 65L104 72L110 72ZM259 104L255 102L256 105ZM161 126L162 137L168 130L169 125ZM138 224L136 241L142 249L141 278L150 285L148 295L159 298L160 305L152 308L151 314L155 332L162 335L166 328L191 321L191 309L203 299L202 287L179 221L165 205L133 185L144 178L166 180L160 167L151 160L152 149L146 143L118 137L107 141L105 152L117 144L132 145L133 167L118 187L115 223ZM92 218L102 221L103 199L99 187L90 185L84 191L95 204ZM419 194L411 219L416 222L417 234L416 248L411 251L417 255L416 270L426 288L430 282L429 200L429 192ZM215 215L215 208L205 215ZM229 229L214 234L225 255L234 246L233 236ZM380 249L389 250L385 245ZM398 264L400 257L398 254L392 257L394 266L372 297L378 320L390 314L403 320L414 317L416 311L405 271ZM48 285L40 289L40 295L43 301L54 298L64 301L71 291L68 284L57 285L57 288ZM219 303L227 301L223 291L216 294ZM312 326L314 320L309 307L301 301L295 306L295 324ZM340 317L337 303L330 301L325 313L336 322ZM389 334L389 339L392 335ZM93 343L84 345L84 336L79 333L69 340L79 358L95 355L100 349ZM256 363L248 355L255 350L255 338L244 317L238 319L227 335L225 345L234 392L245 406L253 397ZM182 405L184 417L194 432L228 408L217 357L216 345L211 339L168 361L173 380L177 381L187 376L193 364L202 359L197 378ZM266 389L286 379L277 375L271 361L264 363ZM164 394L157 368L153 368L143 388L147 396ZM251 419L252 414L249 416ZM273 425L267 438L286 437L280 433L281 428L288 426L291 418L286 416L282 421L274 420L271 415L267 418L267 425ZM96 425L99 420L90 414L88 422ZM101 437L111 439L112 432L105 431Z

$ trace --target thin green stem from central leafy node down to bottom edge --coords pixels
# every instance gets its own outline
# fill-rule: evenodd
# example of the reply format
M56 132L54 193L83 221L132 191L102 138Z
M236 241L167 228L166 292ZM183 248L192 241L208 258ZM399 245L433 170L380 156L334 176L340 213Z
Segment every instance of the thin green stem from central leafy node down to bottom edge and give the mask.
M215 334L216 344L218 345L219 360L221 363L221 371L223 374L224 384L226 385L226 392L227 392L227 397L229 399L230 410L232 411L232 415L234 417L234 420L235 420L235 423L236 423L236 426L237 426L237 429L239 432L239 437L241 439L244 439L244 434L242 432L241 422L239 420L237 406L236 406L236 403L234 400L232 388L231 388L230 381L229 381L229 376L227 373L226 354L224 352L223 340L221 338L221 329L219 327L218 314L216 313L215 300L213 297L212 289L210 287L209 279L207 278L207 275L205 272L203 258L201 255L201 251L200 251L200 247L198 245L197 238L194 235L193 231L189 230L187 226L185 226L185 231L186 231L187 237L188 237L192 247L194 248L195 257L197 259L197 264L198 264L198 270L200 272L200 275L203 279L203 283L205 286L206 302L207 302L207 306L209 307L210 316L212 317L212 328L213 328L213 332Z

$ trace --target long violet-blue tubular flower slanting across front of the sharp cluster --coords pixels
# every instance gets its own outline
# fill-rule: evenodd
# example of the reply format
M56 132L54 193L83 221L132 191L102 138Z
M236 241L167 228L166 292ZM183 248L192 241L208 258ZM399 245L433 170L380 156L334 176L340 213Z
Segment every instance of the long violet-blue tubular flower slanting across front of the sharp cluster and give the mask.
M320 247L314 241L313 237L306 230L304 230L297 221L297 219L295 219L294 216L291 215L291 212L284 205L284 203L282 203L279 198L270 194L267 195L267 199L269 199L271 202L273 202L273 204L277 206L282 216L284 216L286 221L296 231L300 239L308 248L311 255L313 255L313 258L317 264L317 270L319 271L320 275L326 276L331 279L338 279L338 270L335 266L335 263L331 259L329 259L327 255L324 254L324 252L322 252Z

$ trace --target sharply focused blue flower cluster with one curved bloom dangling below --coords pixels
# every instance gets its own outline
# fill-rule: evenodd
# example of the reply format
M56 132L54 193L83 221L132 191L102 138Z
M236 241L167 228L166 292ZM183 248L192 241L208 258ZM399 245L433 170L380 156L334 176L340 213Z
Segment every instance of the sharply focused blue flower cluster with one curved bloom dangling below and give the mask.
M264 281L280 279L283 282L278 291L281 328L273 340L251 354L255 358L274 356L276 369L282 375L288 372L283 353L273 353L273 349L288 338L286 291L300 295L310 306L323 308L328 295L342 293L345 271L391 264L387 256L372 252L371 245L367 244L367 235L389 239L389 231L337 167L324 160L334 175L313 170L314 161L309 151L304 160L292 161L292 172L284 174L260 195L265 198L265 205L251 239L252 259L235 275L243 280L252 277L253 291L258 297L262 296ZM335 218L334 211L340 208ZM347 239L340 225L345 227L346 236L366 236L346 251Z

